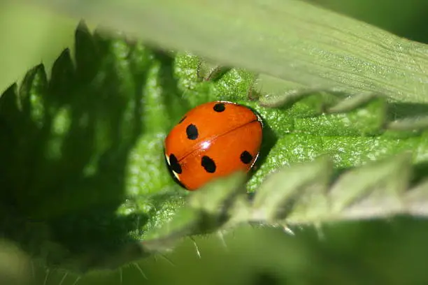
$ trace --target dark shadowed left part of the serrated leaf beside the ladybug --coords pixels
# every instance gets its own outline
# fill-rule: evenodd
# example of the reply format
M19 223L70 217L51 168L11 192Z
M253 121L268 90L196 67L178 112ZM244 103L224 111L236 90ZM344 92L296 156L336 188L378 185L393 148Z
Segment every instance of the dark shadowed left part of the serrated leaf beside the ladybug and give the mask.
M131 52L141 53L138 71L129 67ZM73 254L106 251L132 240L136 223L148 221L145 214L121 217L117 207L125 198L129 152L144 131L150 54L92 36L80 24L76 67L64 50L49 82L36 66L19 92L13 85L0 97L0 199L9 209L0 231L6 238L37 256L46 250L42 244L52 243ZM22 234L26 227L41 243Z

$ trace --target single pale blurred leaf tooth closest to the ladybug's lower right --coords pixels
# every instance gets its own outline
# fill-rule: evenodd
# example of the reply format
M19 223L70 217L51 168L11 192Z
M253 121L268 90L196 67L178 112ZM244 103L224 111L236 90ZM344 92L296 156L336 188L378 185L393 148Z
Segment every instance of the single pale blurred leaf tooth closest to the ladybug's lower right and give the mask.
M252 219L292 223L315 221L327 212L325 190L331 163L325 157L283 168L266 178L255 194Z

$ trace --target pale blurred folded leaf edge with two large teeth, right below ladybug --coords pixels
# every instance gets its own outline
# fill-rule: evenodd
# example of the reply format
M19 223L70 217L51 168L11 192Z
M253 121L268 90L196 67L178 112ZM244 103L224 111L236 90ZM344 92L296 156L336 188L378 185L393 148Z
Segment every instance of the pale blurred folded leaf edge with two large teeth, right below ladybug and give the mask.
M333 177L326 159L285 168L259 187L249 217L289 226L394 214L425 216L427 182L410 187L411 170L409 154L347 170L334 182L329 181Z

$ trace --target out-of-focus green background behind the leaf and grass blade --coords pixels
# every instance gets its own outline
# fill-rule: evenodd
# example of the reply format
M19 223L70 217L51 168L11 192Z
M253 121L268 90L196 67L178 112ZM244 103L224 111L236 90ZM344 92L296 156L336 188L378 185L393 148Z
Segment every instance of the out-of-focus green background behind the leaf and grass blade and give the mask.
M99 5L101 1L99 1ZM394 34L428 43L428 1L311 0ZM96 9L95 9L96 10ZM0 1L0 89L40 62L48 71L73 46L79 19L14 1ZM428 284L428 223L410 217L294 228L243 227L191 240L166 258L92 272L82 284ZM224 245L225 244L225 245ZM13 259L15 258L15 259ZM14 262L11 262L14 261ZM64 278L65 276L65 278ZM11 245L0 247L0 284L73 284L71 272L47 271ZM63 279L64 278L64 279ZM79 281L80 284L80 281Z

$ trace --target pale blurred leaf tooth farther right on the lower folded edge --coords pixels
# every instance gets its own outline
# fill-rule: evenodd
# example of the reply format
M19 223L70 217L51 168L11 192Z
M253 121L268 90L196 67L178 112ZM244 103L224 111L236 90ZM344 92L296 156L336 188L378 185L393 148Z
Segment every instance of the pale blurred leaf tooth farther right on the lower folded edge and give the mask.
M411 170L408 154L342 175L329 191L332 214L341 219L384 217L399 212Z

